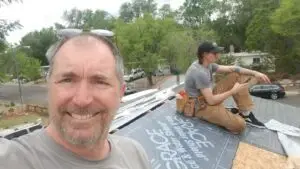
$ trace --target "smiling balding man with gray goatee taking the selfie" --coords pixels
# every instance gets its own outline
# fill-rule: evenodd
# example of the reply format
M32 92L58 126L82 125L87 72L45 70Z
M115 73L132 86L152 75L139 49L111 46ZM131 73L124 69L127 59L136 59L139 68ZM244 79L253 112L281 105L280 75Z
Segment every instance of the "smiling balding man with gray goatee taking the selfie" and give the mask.
M48 59L50 123L15 140L0 139L0 168L150 168L140 144L108 134L125 89L114 45L82 33L54 45Z

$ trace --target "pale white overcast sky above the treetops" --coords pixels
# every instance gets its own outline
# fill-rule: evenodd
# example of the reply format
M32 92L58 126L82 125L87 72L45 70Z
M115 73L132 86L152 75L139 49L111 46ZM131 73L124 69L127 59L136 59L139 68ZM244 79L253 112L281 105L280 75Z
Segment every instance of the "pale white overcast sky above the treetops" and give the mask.
M63 23L61 17L65 10L101 9L113 15L118 15L122 3L129 0L23 0L23 3L13 3L0 8L0 19L18 20L23 28L9 34L9 43L18 43L27 33L53 26L55 22ZM170 4L177 9L184 0L156 0L158 6Z

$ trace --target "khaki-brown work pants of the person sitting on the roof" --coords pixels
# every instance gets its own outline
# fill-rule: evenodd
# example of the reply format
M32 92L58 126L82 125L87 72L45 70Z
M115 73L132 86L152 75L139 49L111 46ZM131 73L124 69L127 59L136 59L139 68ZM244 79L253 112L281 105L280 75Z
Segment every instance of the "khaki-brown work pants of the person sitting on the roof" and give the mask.
M244 83L248 78L251 78L249 83L257 83L255 77L230 73L216 84L213 89L213 94L216 95L229 91L236 82ZM251 111L254 106L248 88L233 95L233 99L240 112ZM240 115L233 114L227 110L223 103L213 106L207 105L205 109L196 111L195 116L210 123L225 127L235 134L241 133L246 127L245 120Z

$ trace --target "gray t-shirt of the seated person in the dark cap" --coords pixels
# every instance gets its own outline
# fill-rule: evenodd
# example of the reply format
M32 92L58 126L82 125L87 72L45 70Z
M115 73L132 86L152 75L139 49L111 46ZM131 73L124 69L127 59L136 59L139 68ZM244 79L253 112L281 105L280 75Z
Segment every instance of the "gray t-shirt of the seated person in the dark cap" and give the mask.
M185 74L184 89L190 97L201 96L200 89L213 87L213 73L218 69L218 64L212 63L204 67L195 61Z

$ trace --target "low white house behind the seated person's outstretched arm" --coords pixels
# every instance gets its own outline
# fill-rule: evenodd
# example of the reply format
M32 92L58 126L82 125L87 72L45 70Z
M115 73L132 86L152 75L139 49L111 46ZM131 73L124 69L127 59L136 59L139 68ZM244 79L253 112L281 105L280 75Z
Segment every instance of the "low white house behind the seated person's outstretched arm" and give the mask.
M267 66L268 72L275 72L275 58L272 57L269 53L257 52L257 51L239 52L239 53L230 52L228 54L225 54L225 56L234 57L235 61L233 64L235 65L247 66L247 67Z

